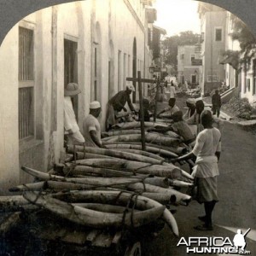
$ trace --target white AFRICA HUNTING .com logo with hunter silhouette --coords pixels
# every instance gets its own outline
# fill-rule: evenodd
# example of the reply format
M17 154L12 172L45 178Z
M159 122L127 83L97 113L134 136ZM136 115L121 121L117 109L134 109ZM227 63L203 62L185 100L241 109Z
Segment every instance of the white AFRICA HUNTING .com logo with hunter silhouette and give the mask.
M187 240L184 237L181 237L177 243L177 247L186 246L187 253L251 254L250 251L246 251L245 249L247 246L245 237L250 230L251 229L248 229L244 234L242 234L241 230L237 230L233 241L230 241L229 237L221 236L191 236Z

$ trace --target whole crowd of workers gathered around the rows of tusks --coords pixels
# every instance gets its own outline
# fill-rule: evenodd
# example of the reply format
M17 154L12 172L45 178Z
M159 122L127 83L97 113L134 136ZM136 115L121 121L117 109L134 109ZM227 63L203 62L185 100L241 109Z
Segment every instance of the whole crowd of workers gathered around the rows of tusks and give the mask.
M173 87L173 88L172 88ZM196 230L212 230L212 210L218 201L217 177L218 177L218 160L221 151L221 131L223 121L218 119L221 99L216 90L212 96L212 111L205 108L202 100L189 98L186 101L187 111L183 113L176 105L175 88L171 84L171 95L168 101L168 108L157 113L158 118L165 117L172 122L168 127L162 128L155 126L150 131L165 133L166 131L175 131L183 137L183 142L191 150L188 154L172 159L172 163L181 160L192 159L195 166L191 170L191 175L195 177L196 195L195 199L204 203L205 216L199 219L204 223L196 226ZM131 102L131 93L134 91L133 85L127 85L125 90L119 91L108 101L106 129L109 130L118 122L119 117L125 117L128 113L125 105L127 103L131 113L138 115L141 119L142 110L137 111ZM64 90L64 126L67 135L67 143L84 144L90 147L105 148L101 140L101 125L98 117L102 112L100 102L90 102L90 113L84 118L83 131L79 130L71 98L81 92L79 85L75 83L67 84ZM152 113L149 111L148 99L143 99L143 116L145 121L149 121ZM212 117L217 114L216 118ZM192 129L191 127L195 127Z

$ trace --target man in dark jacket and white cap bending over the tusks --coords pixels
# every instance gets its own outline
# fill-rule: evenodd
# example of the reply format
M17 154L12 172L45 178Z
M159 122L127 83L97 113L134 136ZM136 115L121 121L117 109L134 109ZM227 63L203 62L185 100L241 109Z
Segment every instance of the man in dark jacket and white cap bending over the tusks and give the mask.
M108 112L107 112L107 119L106 119L107 130L111 128L112 125L116 124L117 113L119 113L122 110L127 112L127 109L125 108L126 102L129 108L131 109L131 112L136 113L136 110L131 103L130 95L132 91L135 91L134 86L132 84L129 84L126 86L126 90L120 90L116 95L114 95L108 101Z

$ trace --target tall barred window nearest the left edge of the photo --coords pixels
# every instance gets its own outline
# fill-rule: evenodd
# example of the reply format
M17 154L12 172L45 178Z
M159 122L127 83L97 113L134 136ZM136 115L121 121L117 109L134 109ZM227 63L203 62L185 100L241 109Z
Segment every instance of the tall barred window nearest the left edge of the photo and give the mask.
M19 27L19 139L34 135L34 35Z

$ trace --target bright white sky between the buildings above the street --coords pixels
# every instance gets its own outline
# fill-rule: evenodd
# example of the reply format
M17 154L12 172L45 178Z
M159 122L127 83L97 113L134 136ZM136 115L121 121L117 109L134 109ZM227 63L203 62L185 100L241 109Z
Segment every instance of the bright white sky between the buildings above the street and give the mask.
M200 33L197 4L193 0L155 0L153 8L157 10L157 20L154 25L166 29L168 37L184 31Z

